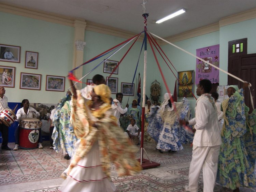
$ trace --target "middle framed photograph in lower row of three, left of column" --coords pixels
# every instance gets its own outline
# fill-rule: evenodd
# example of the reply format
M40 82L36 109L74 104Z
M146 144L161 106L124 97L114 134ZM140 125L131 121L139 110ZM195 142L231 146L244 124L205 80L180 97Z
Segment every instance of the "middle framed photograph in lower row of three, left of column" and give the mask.
M41 75L21 72L19 88L41 90Z

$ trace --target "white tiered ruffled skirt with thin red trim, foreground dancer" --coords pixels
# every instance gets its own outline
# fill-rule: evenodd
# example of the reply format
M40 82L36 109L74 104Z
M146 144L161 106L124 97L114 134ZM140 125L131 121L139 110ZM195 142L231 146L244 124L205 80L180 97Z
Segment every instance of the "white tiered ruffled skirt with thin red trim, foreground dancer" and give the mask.
M115 185L102 171L98 142L94 143L89 153L71 170L62 185L62 192L116 191Z

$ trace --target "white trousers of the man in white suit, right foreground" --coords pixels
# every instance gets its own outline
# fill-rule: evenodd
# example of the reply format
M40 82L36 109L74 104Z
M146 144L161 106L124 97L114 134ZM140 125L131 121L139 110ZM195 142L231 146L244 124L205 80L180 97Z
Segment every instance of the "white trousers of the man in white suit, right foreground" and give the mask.
M203 168L203 192L213 192L218 169L220 147L220 145L213 147L198 147L193 145L192 160L188 175L188 191L198 191L199 175Z

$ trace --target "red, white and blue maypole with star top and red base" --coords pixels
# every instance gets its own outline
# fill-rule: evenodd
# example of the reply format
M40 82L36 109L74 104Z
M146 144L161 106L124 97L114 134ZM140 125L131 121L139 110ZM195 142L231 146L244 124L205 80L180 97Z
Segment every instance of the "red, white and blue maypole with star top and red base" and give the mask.
M142 117L141 117L141 146L140 146L140 164L143 169L145 168L153 168L160 166L159 163L152 162L148 155L146 150L144 149L144 124L145 124L145 99L146 99L146 77L147 77L147 17L148 13L145 13L146 8L145 8L145 2L143 0L142 9L143 9L143 17L144 17L144 73L143 73L143 97L142 97ZM143 159L143 152L146 153L146 156L148 160Z

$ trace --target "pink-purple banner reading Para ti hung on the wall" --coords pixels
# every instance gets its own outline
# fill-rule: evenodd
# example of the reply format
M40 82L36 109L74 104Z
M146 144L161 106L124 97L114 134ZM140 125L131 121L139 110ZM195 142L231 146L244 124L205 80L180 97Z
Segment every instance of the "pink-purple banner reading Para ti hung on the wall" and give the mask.
M219 67L219 45L212 45L197 49L197 56ZM219 70L208 63L197 59L196 62L196 85L201 79L209 79L212 83L219 83Z

